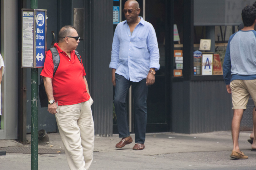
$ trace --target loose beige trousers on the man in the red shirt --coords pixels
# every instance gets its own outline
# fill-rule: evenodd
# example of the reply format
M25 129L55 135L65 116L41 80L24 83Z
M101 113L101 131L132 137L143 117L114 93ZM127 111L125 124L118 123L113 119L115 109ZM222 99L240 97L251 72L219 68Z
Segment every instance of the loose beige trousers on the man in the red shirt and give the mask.
M94 125L89 100L58 106L57 110L55 117L69 168L88 170L92 164L94 147Z

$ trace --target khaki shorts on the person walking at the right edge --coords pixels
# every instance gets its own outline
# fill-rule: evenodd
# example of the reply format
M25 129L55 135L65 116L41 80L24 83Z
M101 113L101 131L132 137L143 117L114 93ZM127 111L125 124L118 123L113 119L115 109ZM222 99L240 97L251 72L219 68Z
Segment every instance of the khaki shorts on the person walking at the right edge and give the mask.
M255 80L233 80L230 83L232 94L232 109L246 109L251 95L256 106L256 79Z

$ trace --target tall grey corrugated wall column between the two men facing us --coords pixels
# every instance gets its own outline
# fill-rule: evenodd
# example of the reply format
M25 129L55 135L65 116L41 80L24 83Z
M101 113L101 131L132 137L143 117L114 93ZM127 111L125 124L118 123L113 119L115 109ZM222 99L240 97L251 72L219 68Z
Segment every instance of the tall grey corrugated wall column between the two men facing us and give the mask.
M113 40L113 1L93 0L92 5L92 114L95 134L112 136L113 131L113 85L111 59ZM86 22L86 21L85 21Z

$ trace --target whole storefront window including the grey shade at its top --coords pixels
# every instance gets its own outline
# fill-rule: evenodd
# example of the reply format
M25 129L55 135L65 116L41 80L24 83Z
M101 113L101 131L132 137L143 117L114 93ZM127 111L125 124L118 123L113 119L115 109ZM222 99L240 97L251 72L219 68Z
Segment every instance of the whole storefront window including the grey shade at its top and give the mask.
M244 6L253 2L194 0L194 76L223 75L228 39L242 23Z

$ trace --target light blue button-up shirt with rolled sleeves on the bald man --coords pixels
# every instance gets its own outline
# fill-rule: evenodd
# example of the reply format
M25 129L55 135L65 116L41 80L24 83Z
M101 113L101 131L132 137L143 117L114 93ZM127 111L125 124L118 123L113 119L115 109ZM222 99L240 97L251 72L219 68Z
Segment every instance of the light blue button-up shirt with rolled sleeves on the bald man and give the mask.
M126 20L116 26L109 68L127 80L147 78L150 68L159 70L159 49L154 27L140 17L132 35Z

